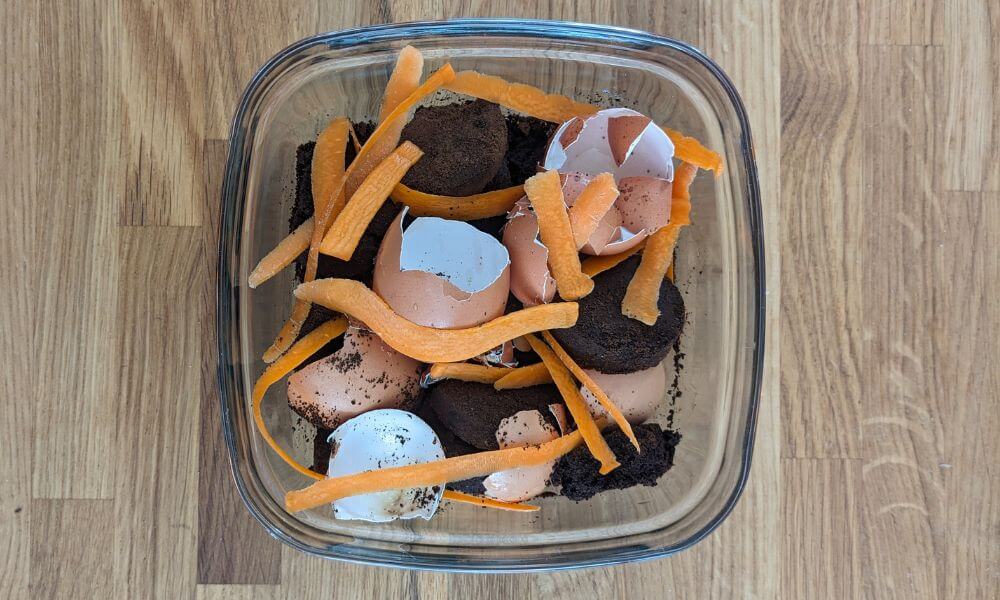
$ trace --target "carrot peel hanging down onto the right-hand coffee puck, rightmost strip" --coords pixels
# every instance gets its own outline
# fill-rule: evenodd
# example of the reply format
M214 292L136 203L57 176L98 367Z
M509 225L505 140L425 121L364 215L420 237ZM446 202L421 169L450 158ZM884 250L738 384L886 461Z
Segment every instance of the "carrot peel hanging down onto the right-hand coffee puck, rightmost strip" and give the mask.
M646 240L642 261L622 299L622 314L626 317L650 326L655 325L660 317L660 286L673 262L674 247L681 228L691 223L689 188L696 172L697 168L687 163L681 164L677 170L670 201L670 222Z

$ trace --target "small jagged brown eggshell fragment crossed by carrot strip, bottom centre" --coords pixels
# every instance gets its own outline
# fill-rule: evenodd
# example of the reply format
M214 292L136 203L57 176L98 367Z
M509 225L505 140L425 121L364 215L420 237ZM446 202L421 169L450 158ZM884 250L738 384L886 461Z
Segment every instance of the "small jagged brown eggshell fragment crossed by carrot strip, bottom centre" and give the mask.
M497 443L501 448L542 444L559 437L537 410L522 410L500 421ZM493 473L483 480L486 495L505 502L521 502L545 491L555 461Z

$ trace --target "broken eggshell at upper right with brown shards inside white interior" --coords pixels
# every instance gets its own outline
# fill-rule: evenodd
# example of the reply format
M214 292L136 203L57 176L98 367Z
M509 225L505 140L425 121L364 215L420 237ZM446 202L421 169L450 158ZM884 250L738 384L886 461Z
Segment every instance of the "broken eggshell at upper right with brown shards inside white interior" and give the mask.
M543 167L563 174L567 206L600 173L611 173L620 192L581 252L625 252L669 222L673 156L667 134L628 108L575 118L556 130Z

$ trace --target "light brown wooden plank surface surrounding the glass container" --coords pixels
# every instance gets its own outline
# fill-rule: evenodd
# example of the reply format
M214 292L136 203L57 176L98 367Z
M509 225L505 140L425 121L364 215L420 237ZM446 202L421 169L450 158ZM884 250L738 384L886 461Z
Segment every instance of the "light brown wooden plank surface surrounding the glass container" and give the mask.
M0 4L0 597L996 597L996 2L54 4ZM746 101L769 268L757 450L734 514L674 558L334 564L235 497L211 332L237 98L307 35L460 15L688 40Z

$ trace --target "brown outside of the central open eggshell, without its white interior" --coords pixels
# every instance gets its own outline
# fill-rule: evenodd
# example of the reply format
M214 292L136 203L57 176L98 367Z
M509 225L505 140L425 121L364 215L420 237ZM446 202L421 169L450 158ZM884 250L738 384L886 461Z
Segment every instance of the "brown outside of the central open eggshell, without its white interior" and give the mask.
M501 316L510 289L509 261L491 284L476 292L460 289L444 277L432 272L416 269L401 270L404 214L405 211L396 217L382 239L372 281L375 293L402 317L427 327L439 329L473 327ZM421 217L421 219L435 219L435 217ZM472 228L467 223L461 225ZM490 237L488 234L483 235ZM459 241L455 240L455 243L458 244ZM448 250L452 257L477 260L477 256L469 248L454 245ZM434 271L440 273L444 269L434 269Z

